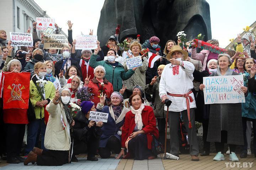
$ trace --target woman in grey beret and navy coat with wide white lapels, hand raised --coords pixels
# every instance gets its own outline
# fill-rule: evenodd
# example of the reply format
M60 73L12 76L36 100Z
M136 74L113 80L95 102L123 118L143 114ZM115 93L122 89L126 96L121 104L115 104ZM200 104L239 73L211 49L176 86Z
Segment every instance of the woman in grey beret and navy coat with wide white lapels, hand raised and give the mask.
M111 151L114 153L121 151L122 127L125 115L129 112L129 109L124 107L122 102L123 96L114 91L107 106L104 106L104 96L100 97L100 103L97 104L98 112L108 113L108 121L103 123L100 138L99 154L101 158L110 158Z

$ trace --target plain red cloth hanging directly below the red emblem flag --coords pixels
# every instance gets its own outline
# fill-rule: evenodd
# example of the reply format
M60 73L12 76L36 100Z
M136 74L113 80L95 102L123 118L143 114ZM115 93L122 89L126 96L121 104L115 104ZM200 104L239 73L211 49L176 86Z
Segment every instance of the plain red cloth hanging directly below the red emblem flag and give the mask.
M27 109L4 109L4 123L28 124Z

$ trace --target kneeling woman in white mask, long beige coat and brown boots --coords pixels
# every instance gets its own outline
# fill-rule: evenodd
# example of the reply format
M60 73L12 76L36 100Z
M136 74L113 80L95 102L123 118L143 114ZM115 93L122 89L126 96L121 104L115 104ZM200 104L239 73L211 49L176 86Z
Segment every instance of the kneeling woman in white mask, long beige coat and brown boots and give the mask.
M44 145L48 150L34 147L28 154L24 165L28 165L30 162L32 164L36 162L37 165L41 166L60 166L69 163L71 140L69 122L66 118L66 112L69 109L65 109L64 105L67 104L65 97L70 95L69 89L63 89L61 95L58 89L55 91L54 98L46 107L49 113L49 121L45 132Z

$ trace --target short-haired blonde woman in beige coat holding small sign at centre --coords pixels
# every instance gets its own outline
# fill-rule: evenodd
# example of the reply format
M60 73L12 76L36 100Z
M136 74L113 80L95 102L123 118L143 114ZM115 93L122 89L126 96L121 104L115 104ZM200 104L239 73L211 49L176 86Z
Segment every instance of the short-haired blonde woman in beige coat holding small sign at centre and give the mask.
M140 51L142 50L142 46L138 42L133 42L130 45L130 49L132 50L133 55L131 57L140 56ZM139 85L142 87L143 91L146 86L146 70L148 69L148 60L144 55L140 56L142 58L142 66L135 69L135 73L126 81L126 91L127 96L132 94L133 86ZM126 63L124 63L124 69L127 70Z

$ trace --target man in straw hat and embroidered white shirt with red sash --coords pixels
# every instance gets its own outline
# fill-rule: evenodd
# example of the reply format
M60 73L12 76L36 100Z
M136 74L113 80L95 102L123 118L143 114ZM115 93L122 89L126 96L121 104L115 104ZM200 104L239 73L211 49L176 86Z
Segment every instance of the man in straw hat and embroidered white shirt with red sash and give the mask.
M179 117L185 121L185 127L188 132L188 141L190 143L190 155L192 161L198 161L198 141L195 127L196 102L194 101L193 89L193 72L194 65L185 61L188 53L181 49L180 46L173 46L166 56L170 59L162 72L159 84L159 96L164 102L166 99L172 101L170 107L165 106L165 111L169 109L170 125L170 153L178 156L179 141L178 127Z

